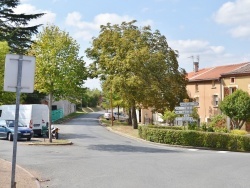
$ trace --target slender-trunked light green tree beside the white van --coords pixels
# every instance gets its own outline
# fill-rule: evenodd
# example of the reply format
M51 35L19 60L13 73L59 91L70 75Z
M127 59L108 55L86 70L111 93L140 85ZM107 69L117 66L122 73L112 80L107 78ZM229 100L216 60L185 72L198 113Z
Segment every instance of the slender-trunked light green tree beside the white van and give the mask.
M78 56L79 48L68 33L54 25L44 27L32 45L30 54L36 56L35 89L49 95L50 112L52 99L75 102L85 92L87 73L83 58Z

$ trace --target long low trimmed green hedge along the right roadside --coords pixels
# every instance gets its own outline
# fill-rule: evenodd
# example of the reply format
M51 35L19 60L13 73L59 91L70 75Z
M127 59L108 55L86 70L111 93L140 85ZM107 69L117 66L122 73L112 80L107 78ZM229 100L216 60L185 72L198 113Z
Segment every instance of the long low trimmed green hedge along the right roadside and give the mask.
M228 133L173 130L152 126L139 126L142 139L171 145L207 147L229 151L250 151L250 137Z

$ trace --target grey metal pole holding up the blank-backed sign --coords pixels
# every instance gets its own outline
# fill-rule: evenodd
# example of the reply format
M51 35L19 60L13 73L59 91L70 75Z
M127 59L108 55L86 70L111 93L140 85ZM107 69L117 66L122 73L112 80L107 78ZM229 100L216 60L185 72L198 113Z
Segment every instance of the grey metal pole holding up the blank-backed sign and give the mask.
M16 115L15 115L15 128L14 128L14 138L13 138L11 188L16 188L15 172L16 172L17 134L18 134L19 104L20 104L21 81L22 81L22 66L23 66L23 55L19 55L18 71L17 71L17 87L16 87Z

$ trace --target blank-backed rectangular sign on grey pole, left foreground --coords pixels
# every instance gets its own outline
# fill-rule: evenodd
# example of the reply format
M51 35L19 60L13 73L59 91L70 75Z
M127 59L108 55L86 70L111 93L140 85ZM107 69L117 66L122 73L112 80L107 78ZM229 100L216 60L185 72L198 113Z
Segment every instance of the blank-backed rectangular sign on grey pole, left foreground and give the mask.
M7 54L5 58L4 91L16 92L15 127L13 137L13 155L11 188L16 187L16 153L17 153L17 131L19 120L20 95L33 93L35 76L35 57L15 54Z

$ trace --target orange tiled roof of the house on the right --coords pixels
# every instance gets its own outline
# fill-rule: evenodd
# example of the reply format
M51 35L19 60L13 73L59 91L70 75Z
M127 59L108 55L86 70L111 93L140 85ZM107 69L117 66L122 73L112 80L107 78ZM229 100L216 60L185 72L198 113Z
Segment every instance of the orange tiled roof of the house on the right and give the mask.
M248 64L250 65L250 63L239 63L232 65L222 65L222 66L204 68L198 70L197 72L188 73L187 78L189 82L216 80L219 79L222 74L240 70L241 68L243 68L245 65ZM250 71L250 66L248 71Z

